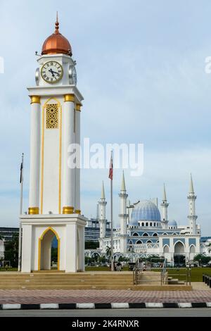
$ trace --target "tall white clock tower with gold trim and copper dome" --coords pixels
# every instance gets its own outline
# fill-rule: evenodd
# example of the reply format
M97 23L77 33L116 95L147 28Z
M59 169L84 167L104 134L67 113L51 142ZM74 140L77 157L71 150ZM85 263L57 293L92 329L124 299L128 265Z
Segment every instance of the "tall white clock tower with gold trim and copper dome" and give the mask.
M22 272L51 269L51 242L58 241L58 270L84 270L84 226L80 211L80 114L75 61L59 32L46 39L37 62L31 100L30 197L23 227ZM72 148L73 147L73 148ZM72 161L73 159L73 161Z

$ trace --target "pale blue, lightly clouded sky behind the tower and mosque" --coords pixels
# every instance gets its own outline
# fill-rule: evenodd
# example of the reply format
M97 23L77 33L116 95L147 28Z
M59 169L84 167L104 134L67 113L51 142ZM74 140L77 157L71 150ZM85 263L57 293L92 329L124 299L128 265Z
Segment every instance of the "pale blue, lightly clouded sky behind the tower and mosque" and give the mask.
M54 30L68 38L84 96L82 139L91 143L142 143L143 175L124 170L131 202L162 199L169 219L188 223L190 173L202 235L211 236L211 56L208 0L0 0L0 226L17 226L20 160L25 153L24 210L28 207L30 99L35 51ZM96 216L104 180L110 219L108 170L82 170L82 213ZM122 169L114 171L118 224Z

